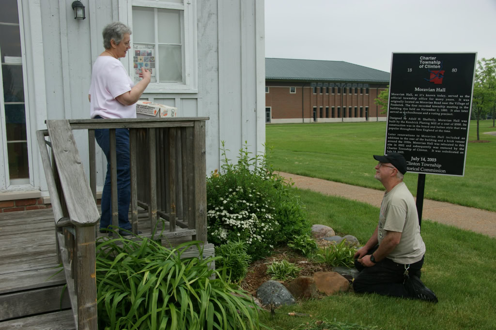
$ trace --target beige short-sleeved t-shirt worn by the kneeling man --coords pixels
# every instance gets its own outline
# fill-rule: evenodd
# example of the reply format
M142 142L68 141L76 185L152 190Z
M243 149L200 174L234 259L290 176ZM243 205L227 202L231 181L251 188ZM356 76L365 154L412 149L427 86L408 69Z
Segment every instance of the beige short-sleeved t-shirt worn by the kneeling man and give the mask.
M386 230L401 232L400 243L387 258L398 264L413 264L422 259L426 245L420 236L417 206L404 182L394 186L382 199L377 231L379 245Z

